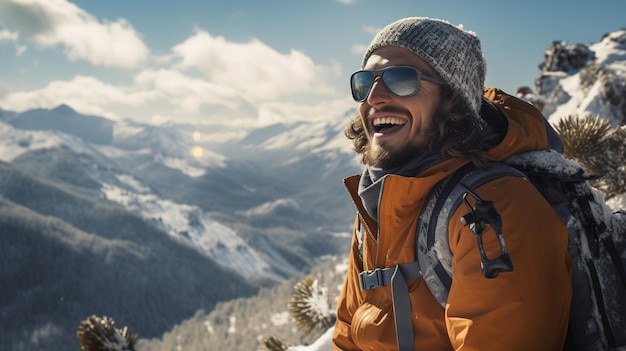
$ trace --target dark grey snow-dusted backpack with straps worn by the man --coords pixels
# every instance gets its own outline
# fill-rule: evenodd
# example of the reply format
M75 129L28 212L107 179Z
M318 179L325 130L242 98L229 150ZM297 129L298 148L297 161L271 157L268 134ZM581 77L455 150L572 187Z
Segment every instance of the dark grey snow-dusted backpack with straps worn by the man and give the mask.
M546 128L553 138L556 133L547 123ZM473 191L503 176L530 180L568 227L573 294L564 350L626 350L626 211L611 210L602 194L588 184L591 177L583 168L555 149L517 154L480 169L472 164L462 167L431 191L422 208L416 229L417 260L361 272L363 290L392 287L399 350L413 350L414 345L406 280L422 277L437 301L446 305L453 279L448 222L459 206L468 209L461 221L474 233L485 278L514 269L497 208ZM467 197L476 199L474 207ZM488 258L482 248L484 223L498 237L498 257Z

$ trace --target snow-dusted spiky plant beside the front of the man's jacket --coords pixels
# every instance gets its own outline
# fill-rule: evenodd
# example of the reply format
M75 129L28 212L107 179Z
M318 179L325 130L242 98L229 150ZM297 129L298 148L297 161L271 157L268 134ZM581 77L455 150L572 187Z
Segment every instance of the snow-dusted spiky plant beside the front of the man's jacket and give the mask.
M332 300L328 289L320 287L312 276L307 276L293 288L289 314L305 335L314 331L323 332L335 323Z

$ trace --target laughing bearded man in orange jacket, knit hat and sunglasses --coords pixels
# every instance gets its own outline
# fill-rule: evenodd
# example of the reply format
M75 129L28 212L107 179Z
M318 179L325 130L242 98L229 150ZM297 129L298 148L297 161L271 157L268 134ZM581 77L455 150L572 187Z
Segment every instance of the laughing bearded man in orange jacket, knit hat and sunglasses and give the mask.
M416 261L418 216L439 181L470 162L482 167L548 147L543 118L528 113L533 107L523 101L485 90L490 106L506 117L481 116L489 104L482 101L485 66L474 33L442 20L405 18L376 35L362 70L352 75L359 115L346 135L365 169L345 179L358 213L335 350L399 349L396 328L406 330L407 323L394 322L391 287L363 289L359 274ZM525 179L502 177L475 192L498 209L514 269L483 276L460 206L448 227L452 285L445 306L424 279L407 279L410 311L398 311L411 319L413 345L406 349L562 349L571 299L567 228ZM484 235L489 257L500 252L495 238Z

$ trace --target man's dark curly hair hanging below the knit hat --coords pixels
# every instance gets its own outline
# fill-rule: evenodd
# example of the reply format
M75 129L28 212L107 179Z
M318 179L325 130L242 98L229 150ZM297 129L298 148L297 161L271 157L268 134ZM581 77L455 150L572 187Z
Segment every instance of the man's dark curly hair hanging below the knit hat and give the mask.
M442 87L441 101L433 127L426 131L428 151L439 151L444 158L466 158L479 167L484 166L484 136L476 117L460 98L460 92ZM352 117L344 135L352 140L353 150L361 155L361 162L365 164L369 139L358 114Z

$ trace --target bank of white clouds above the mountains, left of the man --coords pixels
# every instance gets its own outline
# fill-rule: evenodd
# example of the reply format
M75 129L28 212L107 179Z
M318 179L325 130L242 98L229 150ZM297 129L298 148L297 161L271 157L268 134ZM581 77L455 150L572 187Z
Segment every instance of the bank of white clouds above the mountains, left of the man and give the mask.
M0 0L0 42L13 41L19 55L24 38L103 66L132 67L148 55L125 20L100 22L66 0ZM67 104L111 119L244 125L323 118L352 103L331 87L338 64L317 65L301 51L281 53L257 39L235 43L197 29L146 64L123 85L83 71L30 91L5 88L0 106L21 112Z

